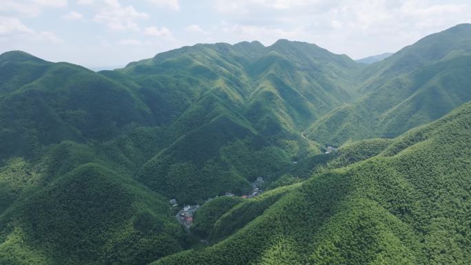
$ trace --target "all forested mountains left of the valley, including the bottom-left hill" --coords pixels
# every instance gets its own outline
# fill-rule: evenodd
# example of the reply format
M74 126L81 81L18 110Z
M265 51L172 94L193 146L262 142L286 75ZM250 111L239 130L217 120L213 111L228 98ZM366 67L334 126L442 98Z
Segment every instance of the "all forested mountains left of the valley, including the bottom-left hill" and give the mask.
M1 54L0 263L147 264L189 248L168 200L246 194L319 153L301 131L353 98L360 68L289 41L183 47L98 73Z

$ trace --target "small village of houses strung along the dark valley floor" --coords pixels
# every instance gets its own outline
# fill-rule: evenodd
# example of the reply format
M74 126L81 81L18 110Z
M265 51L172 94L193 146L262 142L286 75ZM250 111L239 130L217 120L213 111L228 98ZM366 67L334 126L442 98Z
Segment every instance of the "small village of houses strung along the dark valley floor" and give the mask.
M258 195L262 194L263 191L261 189L262 184L264 180L262 177L258 177L255 182L252 182L252 191L251 193L247 195L242 195L240 196L241 198L244 199L249 199L249 198L254 198L257 197ZM235 196L235 194L227 192L224 194L224 196ZM218 198L218 196L216 196ZM213 198L207 199L205 202L208 202L209 200L213 200ZM172 208L178 207L178 203L176 199L171 199L170 204ZM182 226L185 228L185 231L189 233L189 229L191 224L193 224L193 215L196 211L200 209L200 205L184 205L183 208L178 211L178 213L175 215L177 221L182 224Z

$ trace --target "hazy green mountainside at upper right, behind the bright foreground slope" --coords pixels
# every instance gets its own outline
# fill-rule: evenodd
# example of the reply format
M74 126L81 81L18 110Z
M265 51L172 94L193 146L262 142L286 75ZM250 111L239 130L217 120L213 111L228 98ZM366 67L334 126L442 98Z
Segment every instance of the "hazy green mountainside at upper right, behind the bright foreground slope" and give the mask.
M364 96L317 120L308 138L339 146L348 140L398 136L471 100L471 25L432 34L366 67Z

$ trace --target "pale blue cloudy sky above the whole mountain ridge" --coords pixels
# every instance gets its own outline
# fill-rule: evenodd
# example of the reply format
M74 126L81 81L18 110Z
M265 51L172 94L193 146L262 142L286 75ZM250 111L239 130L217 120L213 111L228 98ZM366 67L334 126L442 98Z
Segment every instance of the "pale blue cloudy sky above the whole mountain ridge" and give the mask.
M184 45L289 39L359 59L459 23L470 0L0 0L0 53L111 69Z

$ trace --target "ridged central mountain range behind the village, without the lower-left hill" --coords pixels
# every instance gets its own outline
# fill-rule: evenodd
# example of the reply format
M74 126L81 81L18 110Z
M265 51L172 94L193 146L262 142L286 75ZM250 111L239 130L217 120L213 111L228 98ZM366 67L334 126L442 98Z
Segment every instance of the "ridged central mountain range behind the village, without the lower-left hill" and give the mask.
M45 147L72 140L114 165L126 160L129 176L186 202L244 193L260 174L269 178L318 153L300 132L353 97L348 78L361 68L347 56L284 40L182 47L99 73L24 52L0 61L1 159L35 160ZM158 129L151 142L139 143L155 145L145 158L126 149L103 154L102 142L127 142L147 127ZM185 176L189 169L197 173Z

